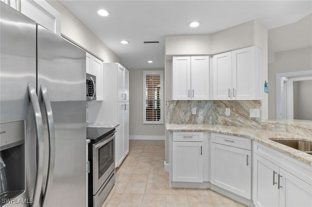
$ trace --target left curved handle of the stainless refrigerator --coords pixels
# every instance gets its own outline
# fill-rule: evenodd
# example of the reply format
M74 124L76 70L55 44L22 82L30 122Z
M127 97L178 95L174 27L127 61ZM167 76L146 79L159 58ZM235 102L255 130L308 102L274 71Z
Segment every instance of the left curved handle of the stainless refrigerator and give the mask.
M44 164L44 138L43 138L43 124L42 116L40 112L40 106L38 96L36 92L36 86L34 84L28 84L28 94L30 102L33 108L33 114L35 118L36 134L37 134L37 174L34 189L34 197L32 207L39 206L41 187L43 181L43 164Z

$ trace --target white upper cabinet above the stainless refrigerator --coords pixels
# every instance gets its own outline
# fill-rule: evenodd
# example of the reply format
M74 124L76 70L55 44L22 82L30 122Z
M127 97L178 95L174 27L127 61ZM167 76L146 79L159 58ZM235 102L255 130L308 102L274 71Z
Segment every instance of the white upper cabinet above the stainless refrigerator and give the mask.
M1 0L41 26L60 35L60 13L45 0Z

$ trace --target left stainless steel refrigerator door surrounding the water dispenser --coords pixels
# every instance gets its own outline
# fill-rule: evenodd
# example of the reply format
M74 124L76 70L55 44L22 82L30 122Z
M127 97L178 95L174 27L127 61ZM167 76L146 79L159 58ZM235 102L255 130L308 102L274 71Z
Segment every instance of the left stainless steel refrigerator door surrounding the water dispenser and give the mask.
M32 202L36 182L37 150L28 84L36 86L36 23L0 2L0 122L25 122L24 192L15 200ZM3 204L1 203L1 206ZM14 200L6 207L16 206Z

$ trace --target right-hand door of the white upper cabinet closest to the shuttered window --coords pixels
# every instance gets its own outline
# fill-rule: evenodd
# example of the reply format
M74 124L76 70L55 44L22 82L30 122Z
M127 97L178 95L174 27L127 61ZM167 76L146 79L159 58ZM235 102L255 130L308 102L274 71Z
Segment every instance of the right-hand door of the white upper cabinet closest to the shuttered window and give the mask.
M191 99L209 100L209 56L191 56Z

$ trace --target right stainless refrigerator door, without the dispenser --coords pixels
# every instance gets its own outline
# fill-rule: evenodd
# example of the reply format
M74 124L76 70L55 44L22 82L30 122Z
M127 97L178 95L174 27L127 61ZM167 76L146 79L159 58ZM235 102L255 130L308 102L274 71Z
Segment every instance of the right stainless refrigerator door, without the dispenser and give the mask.
M53 111L55 166L44 206L79 207L86 203L86 53L38 25L38 96L48 145L47 119L40 95L46 86ZM48 146L47 146L48 148ZM48 155L45 156L45 164ZM45 165L45 176L48 166ZM42 191L45 190L46 177Z

